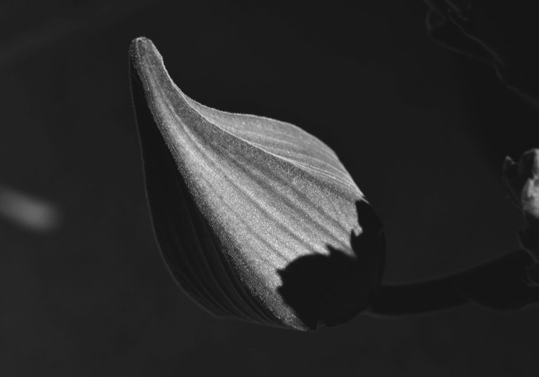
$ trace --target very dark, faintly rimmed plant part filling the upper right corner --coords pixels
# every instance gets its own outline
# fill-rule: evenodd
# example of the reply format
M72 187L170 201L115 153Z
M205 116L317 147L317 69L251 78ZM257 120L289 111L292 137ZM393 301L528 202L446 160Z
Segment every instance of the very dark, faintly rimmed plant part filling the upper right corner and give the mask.
M492 65L500 80L539 107L539 35L533 1L425 0L430 37Z

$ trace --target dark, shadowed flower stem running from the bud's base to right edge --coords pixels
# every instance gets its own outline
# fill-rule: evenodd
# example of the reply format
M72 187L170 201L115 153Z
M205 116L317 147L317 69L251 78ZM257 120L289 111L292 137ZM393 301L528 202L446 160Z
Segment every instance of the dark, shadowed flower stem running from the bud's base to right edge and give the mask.
M519 310L539 303L539 286L531 284L533 259L524 249L484 265L413 284L382 284L369 309L372 315L419 315L477 303L492 310Z

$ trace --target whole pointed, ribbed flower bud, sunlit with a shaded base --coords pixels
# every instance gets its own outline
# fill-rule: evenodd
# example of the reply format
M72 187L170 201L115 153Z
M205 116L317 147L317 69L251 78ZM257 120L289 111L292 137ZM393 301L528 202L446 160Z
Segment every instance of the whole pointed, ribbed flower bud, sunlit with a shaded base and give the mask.
M188 98L148 39L130 54L154 232L182 289L214 315L300 330L365 310L382 225L335 152Z

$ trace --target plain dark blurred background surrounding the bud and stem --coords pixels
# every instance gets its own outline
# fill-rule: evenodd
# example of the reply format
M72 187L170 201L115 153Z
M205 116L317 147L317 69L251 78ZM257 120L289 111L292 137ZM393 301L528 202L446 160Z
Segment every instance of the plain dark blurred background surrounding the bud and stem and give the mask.
M317 333L223 321L154 242L128 78L139 36L195 100L338 152L385 223L385 282L516 249L500 165L538 146L537 117L491 67L427 37L425 4L46 3L0 4L3 376L537 375L538 308Z

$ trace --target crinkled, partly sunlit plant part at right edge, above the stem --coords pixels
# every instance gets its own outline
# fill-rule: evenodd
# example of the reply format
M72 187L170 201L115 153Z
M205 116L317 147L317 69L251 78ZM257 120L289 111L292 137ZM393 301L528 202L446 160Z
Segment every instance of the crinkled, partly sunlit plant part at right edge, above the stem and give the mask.
M539 149L528 150L518 162L506 157L503 178L514 203L524 215L524 229L519 232L521 246L530 253L535 265L533 280L539 282Z

